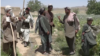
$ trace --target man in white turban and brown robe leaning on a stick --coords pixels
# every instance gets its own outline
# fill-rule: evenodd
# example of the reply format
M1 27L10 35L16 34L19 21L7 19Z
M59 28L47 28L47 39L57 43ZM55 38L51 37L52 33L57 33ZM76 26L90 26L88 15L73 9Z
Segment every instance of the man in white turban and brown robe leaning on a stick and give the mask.
M10 56L14 56L13 51L13 41L15 41L15 49L16 49L16 43L17 43L17 31L16 31L16 20L13 16L12 8L11 6L5 7L5 15L2 17L2 26L4 31L4 37L3 37L3 51L6 52ZM14 40L12 36L12 30L10 23L13 27L14 32Z

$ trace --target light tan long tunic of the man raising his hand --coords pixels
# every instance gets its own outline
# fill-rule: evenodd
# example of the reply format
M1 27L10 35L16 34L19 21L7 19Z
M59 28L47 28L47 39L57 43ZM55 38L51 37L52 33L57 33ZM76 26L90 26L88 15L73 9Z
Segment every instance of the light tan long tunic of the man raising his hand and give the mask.
M63 21L60 21L62 24L64 24L64 30L65 30L65 36L69 38L75 37L75 30L79 30L79 20L75 16L75 14L72 15L73 21L68 22L67 19L70 18L70 16L65 15L63 18Z

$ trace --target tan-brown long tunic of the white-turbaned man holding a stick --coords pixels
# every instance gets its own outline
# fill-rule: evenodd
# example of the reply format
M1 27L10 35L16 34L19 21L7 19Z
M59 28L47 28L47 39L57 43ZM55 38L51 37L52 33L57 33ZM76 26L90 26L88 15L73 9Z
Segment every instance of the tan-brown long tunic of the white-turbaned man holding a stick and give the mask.
M13 31L14 31L14 41L17 41L16 19L14 18L11 19L13 19L11 24L13 26ZM11 27L10 24L6 22L6 15L2 17L2 26L4 31L3 43L13 42Z

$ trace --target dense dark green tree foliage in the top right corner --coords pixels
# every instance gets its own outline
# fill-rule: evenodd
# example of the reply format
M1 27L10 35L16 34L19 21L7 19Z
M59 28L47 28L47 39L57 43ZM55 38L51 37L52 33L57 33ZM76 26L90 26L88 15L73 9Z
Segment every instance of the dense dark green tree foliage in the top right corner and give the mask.
M100 14L100 2L97 2L96 0L88 0L87 7L87 14Z

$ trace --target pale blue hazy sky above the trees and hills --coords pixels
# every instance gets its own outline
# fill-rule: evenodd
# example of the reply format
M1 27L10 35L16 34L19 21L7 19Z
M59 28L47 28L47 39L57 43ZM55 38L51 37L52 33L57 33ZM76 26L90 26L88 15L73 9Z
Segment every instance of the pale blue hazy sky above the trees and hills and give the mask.
M29 0L25 0L25 7ZM86 6L88 0L39 0L44 5L52 4L54 8L75 7L75 6ZM100 0L97 0L100 1ZM12 7L23 7L23 0L1 0L0 6L10 5Z

